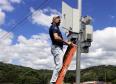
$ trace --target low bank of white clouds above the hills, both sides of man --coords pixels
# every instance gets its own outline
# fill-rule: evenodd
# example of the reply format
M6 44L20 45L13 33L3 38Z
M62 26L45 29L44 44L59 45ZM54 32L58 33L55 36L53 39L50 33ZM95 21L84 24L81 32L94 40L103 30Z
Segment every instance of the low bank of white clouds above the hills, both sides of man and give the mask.
M0 36L5 31L0 31ZM35 69L53 69L53 56L50 52L49 35L40 33L30 39L18 37L18 43L12 44L13 35L7 40L0 41L0 60L7 63L28 66ZM116 65L116 27L108 27L94 31L94 41L88 54L81 56L81 68L96 65ZM2 51L2 52L1 52ZM76 68L76 56L70 69Z

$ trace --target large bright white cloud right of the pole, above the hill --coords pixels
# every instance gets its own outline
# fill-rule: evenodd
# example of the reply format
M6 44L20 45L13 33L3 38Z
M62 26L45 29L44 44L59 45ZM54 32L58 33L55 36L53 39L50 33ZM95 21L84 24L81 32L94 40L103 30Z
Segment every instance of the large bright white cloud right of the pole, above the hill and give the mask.
M82 68L96 65L116 65L116 27L94 32L90 53L82 55Z

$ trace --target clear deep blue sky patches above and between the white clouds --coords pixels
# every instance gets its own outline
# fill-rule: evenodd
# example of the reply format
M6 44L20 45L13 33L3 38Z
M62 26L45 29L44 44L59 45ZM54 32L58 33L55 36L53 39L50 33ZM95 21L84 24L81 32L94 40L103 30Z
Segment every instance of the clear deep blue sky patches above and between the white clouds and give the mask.
M65 0L71 6L76 7L76 0ZM15 10L13 12L6 13L5 24L2 25L6 31L12 28L12 24L21 21L28 13L30 13L30 7L37 9L43 0L23 0L20 4L13 4ZM83 0L83 15L90 15L93 17L94 30L102 29L105 27L115 26L116 23L116 0ZM44 7L50 7L61 12L61 0L49 0L48 4ZM43 9L44 9L43 8ZM33 34L40 32L46 32L47 30L43 26L32 24L28 19L23 25L17 27L13 33L18 36L20 34L30 37Z

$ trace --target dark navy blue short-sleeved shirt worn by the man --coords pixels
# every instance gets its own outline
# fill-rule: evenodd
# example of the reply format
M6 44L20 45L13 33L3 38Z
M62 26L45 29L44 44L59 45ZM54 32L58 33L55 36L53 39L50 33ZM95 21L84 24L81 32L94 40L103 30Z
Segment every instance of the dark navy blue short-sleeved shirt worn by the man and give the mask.
M57 40L54 39L54 36L53 36L54 33L57 33L58 36L60 36L63 39L59 27L52 24L49 28L49 35L50 35L50 38L51 38L51 41L52 41L52 45L57 45L57 46L63 48L63 42L60 42L60 41L57 41Z

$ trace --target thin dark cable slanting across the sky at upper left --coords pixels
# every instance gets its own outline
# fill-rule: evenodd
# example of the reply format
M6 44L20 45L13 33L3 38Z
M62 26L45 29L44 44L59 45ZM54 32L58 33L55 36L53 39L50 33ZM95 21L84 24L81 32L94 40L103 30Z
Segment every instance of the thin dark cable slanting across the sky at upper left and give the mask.
M38 7L37 10L39 10L40 8L44 7L44 5L47 4L49 0L45 0L43 1L43 3L41 3ZM20 24L24 23L24 21L26 21L28 19L28 17L30 17L32 15L32 13L28 13L27 16L25 16L21 21L19 21L17 24L13 25L13 27L10 29L10 32L7 32L6 34L4 34L0 39L4 40L6 39L9 34L11 33L11 31L16 30L17 26L19 26ZM36 15L36 14L35 14Z

